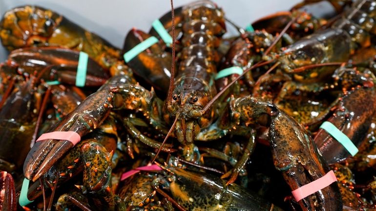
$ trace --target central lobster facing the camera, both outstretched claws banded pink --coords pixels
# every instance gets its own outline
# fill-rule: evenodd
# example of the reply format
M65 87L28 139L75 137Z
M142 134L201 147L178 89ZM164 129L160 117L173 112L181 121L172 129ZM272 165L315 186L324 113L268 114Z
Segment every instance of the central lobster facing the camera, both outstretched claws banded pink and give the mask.
M199 5L199 6L197 6ZM192 12L191 14L196 14L197 11L200 11L199 9L196 11L195 9L200 8L202 4L192 4L189 5L191 8L194 8L193 10L190 9L188 12ZM209 5L209 6L208 6ZM212 8L215 8L215 6L212 6L212 4L207 4L207 7L204 7L203 9L206 11L206 14L211 14L210 12L213 11ZM202 8L200 8L202 9ZM209 11L209 12L208 12ZM214 11L217 12L216 9ZM183 14L184 14L184 8L183 8ZM190 13L188 13L190 14ZM215 13L214 13L215 14ZM197 14L196 14L197 15ZM214 16L214 19L217 19L218 17ZM188 16L188 20L193 19L191 16ZM220 19L220 18L218 18ZM198 25L202 24L200 23L202 20L196 20L193 19L189 23L197 23ZM213 25L220 26L221 24L214 23ZM190 30L189 24L187 24L188 30ZM205 25L204 27L211 27L213 25ZM202 26L202 25L201 25ZM223 28L222 28L223 29ZM216 31L218 32L218 31ZM219 30L219 33L222 33L221 30ZM211 39L213 42L209 42L209 46L215 46L216 37L205 37L204 33L196 32L192 34L191 38L195 38L197 36L198 38L208 38ZM174 37L174 36L173 36ZM196 38L197 38L196 37ZM186 55L187 57L190 55L190 48L188 44L193 44L194 39L189 38L183 38L183 42L185 45ZM200 40L200 39L198 39ZM193 43L190 43L193 42ZM202 47L201 45L197 45L195 43L197 48ZM195 45L193 44L193 45ZM190 46L193 46L190 45ZM192 47L194 48L194 47ZM210 49L210 51L214 51L213 49ZM184 49L183 49L184 51ZM245 98L239 98L239 99L231 99L230 100L230 107L233 109L237 109L237 112L225 112L226 115L222 115L221 120L224 120L222 122L218 122L217 125L214 123L214 126L212 128L207 127L206 129L202 130L199 132L199 129L197 125L201 124L199 127L207 126L209 123L213 122L215 118L211 118L214 116L214 110L203 110L204 105L209 105L208 101L210 99L213 99L213 96L215 92L211 92L214 90L212 87L213 86L206 86L207 84L210 84L210 81L213 81L213 74L212 72L215 71L214 65L210 63L211 60L209 58L200 58L196 57L195 59L192 60L194 64L200 64L200 67L206 67L206 68L201 68L200 70L206 69L210 70L209 72L201 71L201 72L195 72L194 74L196 75L191 75L192 72L184 72L181 71L178 73L178 80L175 83L176 84L176 89L173 92L169 93L168 98L170 98L170 103L167 102L166 106L163 106L161 104L161 100L157 99L156 96L153 94L153 92L148 92L146 91L143 87L141 87L139 84L136 84L133 78L130 76L115 76L109 81L94 95L89 96L87 100L85 100L76 110L74 110L71 114L67 115L60 123L59 125L55 126L54 128L51 129L51 131L76 131L77 133L80 134L80 136L83 136L84 134L87 134L88 132L92 131L94 128L98 127L104 120L104 118L109 114L110 110L120 110L120 109L133 109L137 111L141 111L146 115L146 118L149 118L151 123L155 125L159 125L160 127L165 127L164 123L162 122L162 119L167 119L168 121L171 121L171 119L174 119L176 121L176 127L174 128L174 123L172 124L173 126L171 128L175 129L176 136L180 142L183 143L184 146L189 146L189 143L193 141L193 139L198 139L202 138L203 140L208 140L208 139L215 139L220 136L224 136L225 134L228 134L229 132L234 133L234 134L240 134L242 129L247 128L247 132L249 132L248 126L251 124L253 118L259 117L261 113L268 114L270 118L272 119L272 124L270 124L270 136L271 136L271 144L272 146L286 146L287 144L284 143L283 138L280 138L279 135L275 135L273 133L281 133L280 136L285 137L284 135L286 134L293 134L291 132L292 129L296 129L299 131L299 134L297 138L295 138L294 143L298 142L300 137L304 137L304 143L306 146L303 146L302 148L305 150L302 154L300 155L298 152L299 150L296 150L295 148L289 148L286 150L286 148L283 148L284 150L288 152L294 152L298 153L295 157L303 156L305 160L312 160L313 162L310 162L309 165L312 165L311 167L312 171L318 172L319 175L309 175L306 176L306 173L299 174L298 176L301 176L302 178L290 178L288 173L286 173L286 169L284 169L283 166L285 163L278 163L276 162L278 169L285 170L284 176L287 178L288 182L291 184L292 189L298 187L297 183L302 184L302 183L307 183L308 181L312 181L316 178L318 178L320 175L322 176L326 171L327 168L325 167L325 161L322 161L320 158L320 155L317 153L317 150L315 150L312 139L310 139L307 134L307 132L304 131L301 126L299 126L296 122L293 122L291 117L288 117L285 115L283 112L279 111L275 106L272 104L264 103L258 106L257 102L250 98L250 97L245 97ZM189 70L192 69L192 66L188 65L191 62L188 59L182 58L180 68L182 70ZM204 64L203 64L204 63ZM173 75L173 74L172 74ZM188 76L188 77L182 77L182 76ZM197 77L197 76L203 76L203 77ZM189 78L190 77L190 78ZM209 78L209 80L205 80L205 78ZM191 81L189 81L191 80ZM201 83L196 83L194 84L193 82L201 82ZM185 88L190 88L189 86L197 85L198 87L204 87L200 92L202 91L203 97L199 98L197 95L200 95L201 93L193 93L189 92L188 89ZM193 90L194 91L194 90ZM195 96L196 95L196 96ZM180 96L180 98L179 98ZM197 97L197 98L196 98ZM196 103L198 102L198 103ZM256 108L251 108L249 110L248 107L245 106L245 108L248 108L247 110L244 108L241 108L243 105L241 105L241 102L244 102L247 105L255 106ZM175 103L175 104L173 104ZM183 103L183 104L182 104ZM200 104L199 104L200 103ZM168 105L169 104L169 105ZM180 104L180 105L179 105ZM199 106L196 106L199 105ZM210 105L209 105L210 106ZM112 108L111 108L112 107ZM161 115L160 112L162 111L162 108L165 109L165 111L169 111L170 113L167 113L165 115ZM193 109L192 109L193 108ZM198 109L197 109L198 108ZM172 111L172 112L171 112ZM205 111L205 112L204 112ZM250 111L256 111L254 116L249 116ZM182 112L182 113L181 113ZM259 112L259 113L257 113ZM204 114L204 115L200 115ZM179 116L180 115L180 116ZM188 117L198 117L201 116L199 119L199 124L192 123L191 119ZM209 119L209 117L211 119ZM180 118L180 119L179 119ZM187 118L187 119L186 119ZM230 118L235 119L236 123L235 124L226 124L224 123L225 120L228 120ZM242 123L240 121L242 120ZM282 119L283 125L277 125L279 119ZM178 121L179 120L179 121ZM185 121L188 120L188 123ZM232 120L232 119L231 119ZM241 124L241 125L240 125ZM186 125L188 127L186 127ZM275 125L280 126L280 128L276 128ZM293 127L288 127L292 125ZM216 126L219 126L219 128L223 127L224 129L218 129ZM208 129L209 128L209 129ZM213 128L216 128L215 130L212 130ZM212 132L218 132L219 133L212 133ZM286 133L284 133L287 131ZM210 133L209 133L210 132ZM196 135L197 134L197 135ZM212 136L210 136L212 135ZM197 137L196 137L197 136ZM307 136L307 137L306 137ZM295 137L295 136L294 136ZM280 139L282 140L280 140ZM285 138L287 140L287 138ZM276 143L277 141L282 141L282 143ZM252 144L254 143L254 139L250 138L249 144L247 144L246 147L246 152L245 156L242 158L242 165L237 165L236 169L242 169L243 165L245 165L247 161L247 155L252 152ZM308 143L308 144L307 144ZM296 144L294 147L300 146L299 144ZM307 146L308 149L307 149ZM46 149L46 148L47 149ZM50 167L53 165L53 162L58 160L63 154L65 154L70 148L72 147L72 144L67 142L67 141L56 141L56 140L46 140L43 142L38 142L37 144L34 145L32 151L29 153L28 160L25 163L25 176L28 177L29 179L32 180L37 180L39 177L41 177ZM158 147L163 147L163 145L154 145L154 148ZM91 148L91 147L90 147ZM296 147L297 148L297 147ZM187 149L187 148L186 148ZM192 149L192 148L191 148ZM194 149L194 147L193 147ZM168 150L166 150L168 152ZM283 151L285 153L286 151ZM274 149L273 151L277 157L277 155L283 154L280 151L277 151ZM34 156L34 153L39 154L36 157ZM193 155L194 156L194 155ZM307 157L306 157L307 156ZM45 159L45 160L43 160ZM298 159L298 158L296 158ZM50 162L51 161L51 162ZM294 159L292 161L292 165L296 164L296 160ZM297 164L297 166L288 166L289 168L291 167L292 170L291 172L298 172L298 170L304 169L305 167L300 166L301 164ZM302 164L303 165L303 164ZM35 167L35 168L34 168ZM290 170L290 169L289 169ZM310 172L310 171L308 171ZM235 173L236 175L236 170L231 171L230 173ZM234 176L231 176L232 179L234 180ZM295 179L298 181L296 182ZM302 182L303 181L303 182ZM108 186L103 186L103 187L108 187ZM102 191L102 189L101 189ZM342 206L339 202L338 192L335 188L334 185L330 186L327 188L325 191L323 191L323 195L321 192L316 193L313 196L310 196L307 198L307 202L300 202L300 205L302 208L304 207L303 203L307 203L310 206L310 209L315 209L315 199L320 198L321 201L319 201L319 205L323 206L325 209L331 209L333 208L334 210L337 210L338 208L342 209ZM336 197L334 198L328 198L328 195L334 192L334 195ZM325 200L323 201L322 198ZM331 201L331 199L334 200L333 205L330 205L327 203L327 200ZM112 203L112 202L111 202ZM333 207L331 207L333 206ZM303 208L305 209L305 208Z

